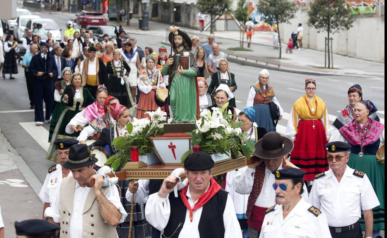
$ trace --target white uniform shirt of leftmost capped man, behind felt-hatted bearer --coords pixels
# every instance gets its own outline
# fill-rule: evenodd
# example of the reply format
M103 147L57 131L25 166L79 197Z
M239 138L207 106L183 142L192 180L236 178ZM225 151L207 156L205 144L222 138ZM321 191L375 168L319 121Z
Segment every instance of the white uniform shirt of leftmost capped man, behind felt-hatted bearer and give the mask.
M52 169L50 171L50 169ZM62 166L60 164L55 165L48 169L48 174L46 176L45 183L39 192L39 197L45 202L50 203L50 207L55 206L57 197L59 196L60 184L62 184ZM71 171L68 174L68 177L72 177Z

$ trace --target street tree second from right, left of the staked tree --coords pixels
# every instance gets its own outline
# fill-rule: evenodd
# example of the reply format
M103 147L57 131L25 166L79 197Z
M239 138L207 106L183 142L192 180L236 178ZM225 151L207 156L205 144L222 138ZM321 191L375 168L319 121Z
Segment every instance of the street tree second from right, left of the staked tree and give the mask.
M259 0L258 10L265 16L266 22L276 22L278 31L279 47L281 47L281 36L279 35L279 24L288 23L289 19L295 17L298 7L289 0ZM279 50L281 58L281 48Z

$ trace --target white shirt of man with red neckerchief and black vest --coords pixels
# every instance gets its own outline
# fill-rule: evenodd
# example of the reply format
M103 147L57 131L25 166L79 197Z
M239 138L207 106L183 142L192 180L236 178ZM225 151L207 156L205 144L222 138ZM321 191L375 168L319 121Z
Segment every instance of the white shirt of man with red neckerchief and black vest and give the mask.
M207 188L208 190L208 188ZM206 190L206 191L207 191ZM170 194L168 194L169 196ZM161 235L164 233L164 228L168 224L168 220L171 214L171 204L168 199L159 197L158 193L149 195L149 199L145 206L145 216L149 224L154 228L161 231ZM195 206L197 201L193 201L190 193L190 188L187 189L188 203L191 208ZM187 209L185 213L185 221L183 228L180 231L179 238L199 238L199 221L202 216L203 206L196 209L193 212L194 219L190 221L190 212ZM236 219L235 209L233 201L231 200L230 195L227 195L226 207L223 212L223 223L224 223L224 238L239 238L242 237L240 230L240 225Z

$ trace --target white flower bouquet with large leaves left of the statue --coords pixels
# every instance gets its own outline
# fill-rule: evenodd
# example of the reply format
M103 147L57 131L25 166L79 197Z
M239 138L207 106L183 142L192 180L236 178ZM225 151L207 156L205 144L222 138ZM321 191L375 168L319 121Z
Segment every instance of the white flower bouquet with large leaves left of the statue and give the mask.
M125 166L128 162L131 147L137 146L139 155L147 155L154 151L149 137L164 134L164 123L167 119L166 112L158 108L156 111L148 111L146 114L151 117L151 120L134 117L133 122L128 123L126 126L128 133L114 138L112 145L115 145L115 149L120 152L106 161L106 164L111 165L114 170L120 165Z

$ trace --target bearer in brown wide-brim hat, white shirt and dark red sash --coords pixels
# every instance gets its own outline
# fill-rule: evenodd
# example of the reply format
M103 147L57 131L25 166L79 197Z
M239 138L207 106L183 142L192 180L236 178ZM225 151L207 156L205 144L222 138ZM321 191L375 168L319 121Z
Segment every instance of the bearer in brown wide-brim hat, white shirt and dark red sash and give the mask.
M271 172L287 167L297 168L286 160L293 147L294 144L288 137L283 137L278 132L266 133L255 143L253 153L258 157L256 162L248 165L245 172L236 174L233 179L236 192L250 194L246 211L249 238L259 237L265 211L277 203L276 192L272 189L275 176ZM306 191L305 184L302 187ZM307 201L308 193L303 193L302 197Z

